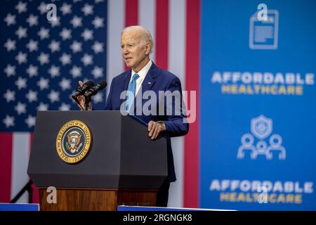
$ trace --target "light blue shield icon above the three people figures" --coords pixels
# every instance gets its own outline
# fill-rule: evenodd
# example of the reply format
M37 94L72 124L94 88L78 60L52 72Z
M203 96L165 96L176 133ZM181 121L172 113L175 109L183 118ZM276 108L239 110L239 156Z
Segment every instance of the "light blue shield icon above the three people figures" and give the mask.
M258 139L265 139L272 132L272 120L264 115L251 119L251 132Z

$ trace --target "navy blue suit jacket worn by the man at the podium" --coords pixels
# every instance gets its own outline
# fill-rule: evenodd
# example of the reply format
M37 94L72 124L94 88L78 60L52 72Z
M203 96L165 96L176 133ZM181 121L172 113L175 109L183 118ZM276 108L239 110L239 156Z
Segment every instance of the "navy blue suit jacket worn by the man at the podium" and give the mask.
M105 110L120 110L121 104L125 101L125 99L120 99L120 95L122 91L126 91L128 89L130 79L131 70L123 72L121 73L121 75L118 75L117 77L114 77L112 79L110 92L107 96L107 105L105 107ZM142 93L148 90L155 92L157 100L159 96L158 91L180 91L180 94L182 91L180 79L176 77L176 75L173 75L171 72L158 68L156 65L154 65L154 63L152 63L152 66L147 72L147 75L142 84ZM138 98L139 94L140 91L138 91L136 98ZM180 96L182 104L182 94ZM140 101L141 105L140 103L134 103L134 108L136 109L137 107L143 107L146 101L147 100L142 99ZM173 136L183 136L187 134L187 132L189 131L189 124L183 122L183 119L185 119L185 115L183 115L182 110L181 113L176 113L175 111L173 111L171 115L166 115L167 104L165 103L164 105L164 115L159 115L159 113L157 113L157 115L143 115L142 113L142 115L136 115L136 117L146 123L150 122L150 120L164 122L166 130L163 132L163 135L166 136L167 141L168 176L169 181L173 182L176 181L176 173L174 170L170 138ZM175 108L174 102L172 102L172 106L173 108ZM156 107L157 109L159 108L159 101L157 101Z

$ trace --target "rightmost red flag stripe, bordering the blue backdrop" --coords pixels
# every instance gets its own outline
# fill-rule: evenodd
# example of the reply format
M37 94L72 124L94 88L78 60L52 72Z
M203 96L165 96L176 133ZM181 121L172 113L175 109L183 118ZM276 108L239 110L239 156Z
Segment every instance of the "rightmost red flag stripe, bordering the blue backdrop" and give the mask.
M199 112L199 23L200 0L187 0L185 89L197 91ZM190 95L189 95L190 96ZM185 136L184 206L199 207L199 113Z

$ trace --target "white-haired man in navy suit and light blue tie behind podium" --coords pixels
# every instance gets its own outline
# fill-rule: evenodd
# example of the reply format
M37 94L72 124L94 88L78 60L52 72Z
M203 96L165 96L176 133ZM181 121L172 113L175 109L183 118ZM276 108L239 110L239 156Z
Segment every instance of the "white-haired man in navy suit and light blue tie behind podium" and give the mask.
M176 181L170 138L187 134L189 125L185 120L185 113L181 107L182 89L180 79L171 72L154 65L150 60L152 48L152 36L144 27L126 27L121 32L121 56L123 56L126 66L131 70L112 79L105 110L126 110L130 114L136 115L138 119L148 124L148 136L152 140L157 139L159 135L166 136L169 177L157 193L157 206L166 207L170 182ZM79 84L82 85L82 82L79 82ZM124 91L128 91L127 99L121 98ZM143 106L148 101L142 98L146 91L155 94L156 99L159 99L159 101L150 105L151 114L143 111ZM171 99L172 94L176 93L178 98L175 96L174 101L166 103L168 94L160 99L159 91L169 93ZM126 97L126 95L123 96ZM138 99L140 101L137 101ZM79 98L79 101L84 106L84 98ZM92 105L89 106L89 109L92 109Z

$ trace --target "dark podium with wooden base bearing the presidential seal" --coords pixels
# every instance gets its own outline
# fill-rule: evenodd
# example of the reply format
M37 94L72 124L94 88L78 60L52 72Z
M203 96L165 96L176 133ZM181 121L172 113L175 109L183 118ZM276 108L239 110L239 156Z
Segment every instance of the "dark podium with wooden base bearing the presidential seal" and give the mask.
M88 127L90 149L81 161L69 163L60 157L58 135L74 120ZM81 135L81 141L84 138ZM69 138L65 146L72 148L76 140ZM157 191L168 176L166 139L152 141L144 122L120 111L41 111L27 174L39 188L41 210L155 206ZM55 188L55 197L48 187ZM49 200L54 198L57 203Z

